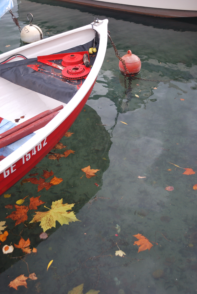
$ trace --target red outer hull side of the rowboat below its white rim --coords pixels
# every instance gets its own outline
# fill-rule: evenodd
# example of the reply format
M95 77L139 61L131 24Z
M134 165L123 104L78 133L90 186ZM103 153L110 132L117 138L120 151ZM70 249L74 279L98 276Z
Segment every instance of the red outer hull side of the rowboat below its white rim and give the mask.
M47 138L0 174L0 195L24 177L59 142L80 114L94 84L74 111Z

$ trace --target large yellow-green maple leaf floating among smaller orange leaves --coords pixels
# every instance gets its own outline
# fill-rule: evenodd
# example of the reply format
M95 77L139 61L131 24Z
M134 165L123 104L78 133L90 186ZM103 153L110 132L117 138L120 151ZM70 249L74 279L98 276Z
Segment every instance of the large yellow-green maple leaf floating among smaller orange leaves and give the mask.
M36 212L36 215L30 223L36 223L40 221L40 225L43 228L43 231L45 232L46 230L55 227L56 220L61 225L63 225L64 223L69 225L69 222L80 221L76 218L73 211L67 212L67 210L71 209L74 206L74 204L62 204L62 202L63 199L52 202L51 209L44 206L47 209L49 209L49 211Z

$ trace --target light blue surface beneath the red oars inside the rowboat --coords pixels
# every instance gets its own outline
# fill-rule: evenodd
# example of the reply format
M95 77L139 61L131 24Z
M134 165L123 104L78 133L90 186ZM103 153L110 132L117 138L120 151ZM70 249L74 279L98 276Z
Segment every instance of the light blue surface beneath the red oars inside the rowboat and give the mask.
M4 118L0 123L0 136L2 133L13 128L14 126L16 126L16 123L12 123L11 121L8 121L7 119ZM10 155L12 152L14 152L16 149L18 149L21 145L23 145L25 142L27 142L34 135L35 135L35 133L31 133L30 135L27 135L14 143L11 143L5 147L0 148L0 156Z

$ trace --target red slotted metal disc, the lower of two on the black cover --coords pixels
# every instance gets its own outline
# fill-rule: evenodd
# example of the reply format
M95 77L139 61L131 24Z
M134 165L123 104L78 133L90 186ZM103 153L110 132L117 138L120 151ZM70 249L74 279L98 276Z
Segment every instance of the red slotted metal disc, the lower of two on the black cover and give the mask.
M90 68L85 65L75 64L72 66L67 66L62 70L62 77L68 80L79 80L80 78L85 78L90 72Z

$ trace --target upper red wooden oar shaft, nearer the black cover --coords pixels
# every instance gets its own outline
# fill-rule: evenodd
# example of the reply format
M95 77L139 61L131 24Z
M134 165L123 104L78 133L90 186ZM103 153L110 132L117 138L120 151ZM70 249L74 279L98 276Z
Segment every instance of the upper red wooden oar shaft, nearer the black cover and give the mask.
M59 111L61 110L62 108L64 108L63 105L60 105L54 109L51 109L51 110L46 110L44 112L41 112L39 114L37 114L36 116L32 117L32 118L29 118L27 121L24 121L23 123L20 123L18 126L15 126L14 128L11 128L10 130L7 130L6 132L0 134L0 140L6 136L9 136L11 135L12 133L20 130L21 128L24 128L28 125L30 125L31 123L34 123L35 121L51 114L51 113L54 113L55 111ZM26 136L26 135L25 135ZM18 140L18 139L17 139Z

